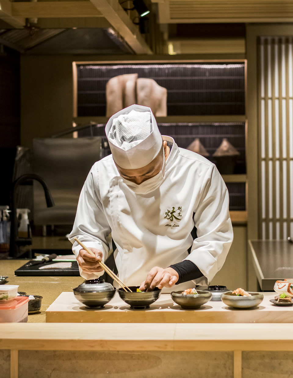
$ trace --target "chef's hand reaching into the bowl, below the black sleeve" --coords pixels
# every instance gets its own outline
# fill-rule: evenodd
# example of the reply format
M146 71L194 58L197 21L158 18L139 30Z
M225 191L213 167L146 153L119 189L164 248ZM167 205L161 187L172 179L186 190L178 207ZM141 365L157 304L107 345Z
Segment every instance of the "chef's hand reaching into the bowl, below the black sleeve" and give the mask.
M146 280L141 283L141 291L152 291L155 287L162 289L163 287L172 287L178 281L179 276L173 268L160 268L154 266L147 274Z

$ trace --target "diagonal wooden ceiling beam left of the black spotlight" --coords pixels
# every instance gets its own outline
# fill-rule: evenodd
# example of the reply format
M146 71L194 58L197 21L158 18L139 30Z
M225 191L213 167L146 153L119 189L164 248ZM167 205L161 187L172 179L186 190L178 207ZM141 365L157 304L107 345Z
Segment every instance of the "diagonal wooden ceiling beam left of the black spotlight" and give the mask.
M153 54L118 0L90 0L136 54ZM154 36L155 37L155 36Z

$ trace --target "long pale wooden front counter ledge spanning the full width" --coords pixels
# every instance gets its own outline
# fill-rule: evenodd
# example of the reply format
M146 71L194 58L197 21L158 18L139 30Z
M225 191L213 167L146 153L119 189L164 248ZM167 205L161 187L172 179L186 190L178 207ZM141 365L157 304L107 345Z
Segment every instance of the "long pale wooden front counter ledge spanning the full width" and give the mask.
M293 324L0 324L10 350L287 350Z

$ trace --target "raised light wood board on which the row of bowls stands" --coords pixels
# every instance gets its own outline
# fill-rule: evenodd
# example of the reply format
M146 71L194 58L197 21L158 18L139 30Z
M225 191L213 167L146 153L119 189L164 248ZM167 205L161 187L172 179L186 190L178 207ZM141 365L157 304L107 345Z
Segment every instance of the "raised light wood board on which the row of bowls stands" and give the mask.
M86 308L74 296L64 292L46 310L46 322L65 323L292 323L293 307L270 302L276 293L263 293L256 307L234 309L222 301L209 301L200 308L184 310L170 294L161 294L146 310L133 310L116 293L102 309Z

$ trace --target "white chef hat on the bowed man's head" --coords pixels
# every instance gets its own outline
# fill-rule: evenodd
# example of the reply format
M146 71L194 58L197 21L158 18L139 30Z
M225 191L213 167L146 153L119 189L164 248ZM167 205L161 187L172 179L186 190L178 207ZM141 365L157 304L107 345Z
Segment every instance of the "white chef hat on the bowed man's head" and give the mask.
M152 110L142 105L131 105L115 113L105 132L113 159L124 169L146 166L158 155L163 143Z

